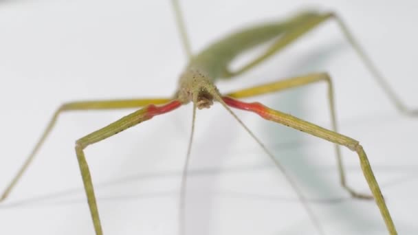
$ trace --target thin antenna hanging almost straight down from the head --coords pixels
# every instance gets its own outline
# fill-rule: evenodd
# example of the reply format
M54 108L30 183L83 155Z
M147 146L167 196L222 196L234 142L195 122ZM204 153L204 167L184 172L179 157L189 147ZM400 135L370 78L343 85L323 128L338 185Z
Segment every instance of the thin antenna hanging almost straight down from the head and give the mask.
M188 141L186 160L184 161L183 173L181 175L181 188L179 198L179 235L184 235L186 231L186 184L188 165L190 163L190 153L192 150L193 135L195 134L196 103L193 102L192 130Z

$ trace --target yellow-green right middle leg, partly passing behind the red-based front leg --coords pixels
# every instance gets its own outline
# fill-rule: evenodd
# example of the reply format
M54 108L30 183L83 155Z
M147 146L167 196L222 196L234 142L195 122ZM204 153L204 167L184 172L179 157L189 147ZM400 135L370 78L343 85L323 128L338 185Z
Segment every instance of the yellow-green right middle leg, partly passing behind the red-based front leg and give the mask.
M285 80L279 80L277 82L270 82L264 85L259 85L256 87L250 87L248 89L242 89L240 91L235 91L228 93L226 96L231 98L245 98L250 96L258 96L265 93L272 93L276 91L283 91L285 89L291 89L294 87L300 87L304 85L309 85L314 82L327 82L328 85L328 101L329 101L329 110L331 111L331 130L338 132L337 118L336 118L336 109L334 104L334 92L331 77L326 73L320 74L308 74L305 76L298 76L295 78L287 78ZM373 196L367 194L360 194L355 192L351 187L347 185L344 164L342 163L341 150L338 144L334 145L336 149L336 157L338 164L338 171L340 172L340 183L342 188L347 190L352 197L360 199L373 199Z

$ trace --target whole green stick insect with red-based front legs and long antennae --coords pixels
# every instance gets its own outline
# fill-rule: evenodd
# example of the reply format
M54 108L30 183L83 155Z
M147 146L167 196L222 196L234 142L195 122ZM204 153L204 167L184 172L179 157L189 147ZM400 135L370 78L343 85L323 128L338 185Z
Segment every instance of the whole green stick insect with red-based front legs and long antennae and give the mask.
M162 115L173 111L181 105L192 103L193 104L193 113L192 113L192 131L190 134L190 141L188 144L188 152L186 156L186 161L184 164L184 173L182 176L181 183L181 197L180 197L180 213L179 213L179 234L184 234L184 204L185 204L185 188L186 188L186 176L188 171L188 163L190 160L192 139L194 133L194 123L195 123L195 114L197 109L209 108L214 102L219 102L238 122L245 128L245 130L251 135L251 137L259 143L261 148L265 151L266 155L272 158L276 163L277 168L283 173L287 181L298 194L298 198L303 203L311 222L316 226L316 229L320 234L325 234L322 225L314 216L314 211L309 207L307 200L303 196L302 192L294 183L294 180L289 177L289 174L286 172L285 168L275 159L261 141L250 131L250 129L237 117L232 111L232 109L242 109L245 111L251 111L260 115L265 120L271 122L277 122L278 124L284 124L291 128L294 128L299 131L303 131L307 134L314 135L321 139L325 139L329 142L335 143L336 156L338 161L338 169L340 171L340 181L342 187L347 190L352 197L360 199L374 199L379 208L382 219L386 223L388 234L397 234L395 225L392 221L391 214L386 207L386 203L382 197L382 192L380 187L373 175L373 171L369 164L369 160L366 157L366 153L362 145L355 139L341 135L338 133L338 126L336 124L336 114L334 108L334 99L333 99L333 85L332 79L327 73L316 73L316 74L307 74L305 76L298 76L294 78L287 78L284 80L278 80L276 82L270 82L264 85L259 85L256 87L249 87L248 89L241 89L239 91L221 94L217 87L214 85L214 82L217 79L230 79L236 76L239 76L245 71L256 67L267 58L270 58L274 54L281 52L282 49L291 45L299 38L302 38L314 30L318 25L325 23L327 21L336 21L342 30L344 36L346 36L347 41L355 49L355 52L358 53L358 56L363 60L366 67L369 68L374 78L380 84L382 89L386 92L389 98L393 101L399 111L406 113L408 115L415 115L417 111L410 111L406 109L404 104L399 101L399 98L391 90L391 87L385 82L385 80L380 75L380 72L375 69L375 66L371 62L368 56L364 53L363 49L357 43L355 38L347 29L347 26L343 21L333 12L314 12L307 11L296 14L295 16L279 22L266 23L263 25L256 25L247 29L243 29L234 34L225 36L225 38L213 43L212 45L206 47L201 52L195 54L190 49L190 43L186 30L184 27L184 21L181 16L181 10L179 8L179 3L176 0L173 0L173 8L175 9L176 21L179 26L179 31L181 33L181 38L183 42L184 49L188 56L189 62L184 69L183 73L179 78L179 86L175 96L170 98L154 98L154 99L138 99L138 100L97 100L97 101L82 101L82 102L70 102L63 104L52 117L50 124L48 124L45 129L41 139L35 148L30 153L28 159L23 164L22 168L19 170L17 175L14 177L10 185L5 189L1 195L0 201L3 201L8 197L12 189L17 184L21 176L28 168L34 156L38 152L39 148L42 146L47 135L50 133L54 124L60 113L65 111L76 111L76 110L102 110L102 109L131 109L138 108L137 111L126 115L125 117L120 118L108 126L100 128L98 131L94 131L89 135L78 139L76 141L75 151L76 157L78 159L78 164L80 166L80 173L83 177L83 183L85 187L85 192L87 195L87 201L89 203L89 209L91 212L91 219L94 223L94 230L96 234L103 234L102 225L100 224L100 216L98 212L98 205L96 203L96 197L94 193L94 186L91 181L91 175L89 171L89 166L85 159L85 148L97 142L100 142L103 139L107 139L121 131L131 128L141 122L151 120L156 115ZM240 56L243 52L246 52L248 49L252 49L258 45L261 45L267 41L273 40L274 43L263 53L254 58L250 63L244 65L243 67L231 71L229 65L231 61ZM265 93L272 93L283 91L285 89L291 89L294 87L302 87L309 85L315 82L325 82L328 85L328 95L329 95L329 109L331 111L331 130L322 128L310 122L299 119L292 115L282 113L271 109L259 102L248 103L240 101L241 98L248 98L252 96L259 96ZM139 109L140 108L140 109ZM344 167L341 162L341 153L340 146L345 146L355 152L360 159L360 164L364 177L369 184L372 195L360 194L353 190L350 186L347 185Z

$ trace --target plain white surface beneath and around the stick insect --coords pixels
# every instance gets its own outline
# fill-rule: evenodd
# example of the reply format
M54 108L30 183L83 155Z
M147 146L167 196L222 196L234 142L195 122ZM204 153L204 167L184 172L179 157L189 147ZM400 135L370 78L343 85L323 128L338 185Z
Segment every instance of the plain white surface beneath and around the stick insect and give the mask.
M237 27L307 4L337 10L409 107L418 107L416 1L181 1L194 51ZM69 100L170 96L186 63L168 1L0 2L0 189L54 109ZM334 78L341 132L360 140L399 234L417 234L418 120L397 113L336 23L327 23L221 91L309 71ZM329 127L325 86L254 98ZM10 198L0 234L94 234L74 141L129 111L66 113ZM373 202L338 185L331 144L238 112L292 172L327 234L386 234ZM190 107L87 149L106 234L177 234ZM219 105L199 111L187 234L315 234L292 188ZM278 144L285 143L285 144ZM287 143L287 144L286 144ZM349 183L368 192L344 149ZM415 218L414 218L415 217Z

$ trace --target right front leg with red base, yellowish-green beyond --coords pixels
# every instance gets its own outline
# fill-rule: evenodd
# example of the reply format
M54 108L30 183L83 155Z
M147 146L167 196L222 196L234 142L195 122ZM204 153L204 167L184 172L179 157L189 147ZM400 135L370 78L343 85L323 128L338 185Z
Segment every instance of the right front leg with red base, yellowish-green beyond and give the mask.
M373 175L373 171L369 164L369 159L367 159L367 156L363 150L363 147L360 145L360 143L357 140L351 139L350 137L341 135L334 131L329 131L325 128L322 128L315 124L311 124L309 122L301 120L292 115L282 113L274 109L270 109L268 107L265 107L263 104L259 102L254 102L254 103L241 102L239 100L234 100L226 96L223 97L223 102L225 102L225 104L227 104L230 107L233 107L236 109L243 109L246 111L252 111L254 113L257 113L258 115L260 115L266 120L277 122L279 124L284 124L285 126L289 126L291 128L294 128L299 131L303 131L310 135L320 137L321 139L325 139L329 142L333 142L338 145L346 146L350 150L355 151L358 154L358 157L360 159L360 166L362 167L362 171L363 171L363 175L366 178L366 181L369 184L369 188L373 194L373 197L375 198L377 206L380 209L380 213L382 214L384 222L386 223L388 232L391 235L397 234L395 225L393 224L393 221L391 218L391 214L389 213L388 208L386 207L386 203L382 197L382 192L380 190L380 187L377 184L375 176Z

